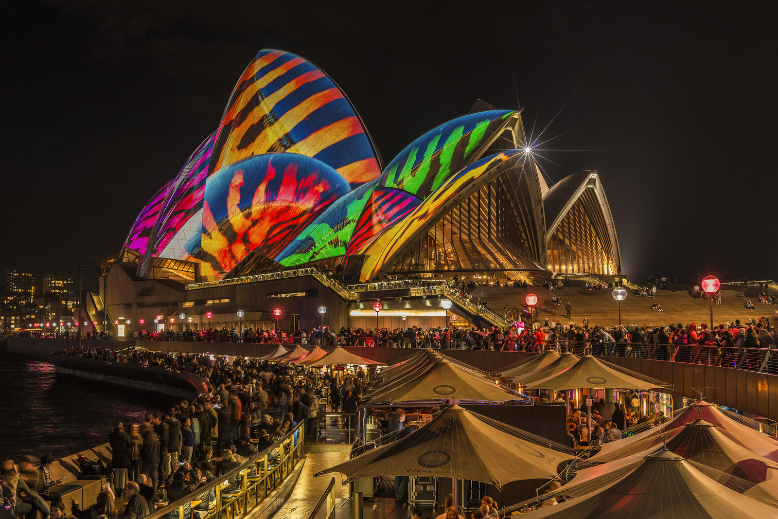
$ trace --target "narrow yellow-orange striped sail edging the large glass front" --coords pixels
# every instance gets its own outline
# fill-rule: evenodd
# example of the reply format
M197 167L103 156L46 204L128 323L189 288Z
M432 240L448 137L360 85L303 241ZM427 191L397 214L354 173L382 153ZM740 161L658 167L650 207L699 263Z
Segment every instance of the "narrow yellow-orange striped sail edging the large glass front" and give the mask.
M511 157L520 156L520 150L511 149L485 157L449 177L439 188L417 206L408 216L387 228L386 232L365 251L361 279L372 279L387 261L392 261L406 244L412 243L429 224L442 216L449 202L456 197L468 197L491 180L496 168L505 165Z

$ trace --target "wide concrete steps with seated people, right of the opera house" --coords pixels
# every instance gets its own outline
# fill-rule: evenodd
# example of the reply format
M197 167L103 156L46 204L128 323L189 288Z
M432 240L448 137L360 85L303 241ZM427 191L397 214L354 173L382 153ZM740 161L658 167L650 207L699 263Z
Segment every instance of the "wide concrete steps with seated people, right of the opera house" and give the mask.
M572 280L571 280L572 281ZM572 284L572 283L571 283ZM577 284L577 283L576 283ZM524 296L534 293L538 296L538 304L535 307L538 321L560 322L562 324L580 324L584 317L589 320L589 325L596 324L612 326L619 322L619 303L611 295L611 290L587 290L580 287L555 289L553 292L542 287L514 289L507 286L478 286L472 293L473 300L479 297L485 300L487 306L497 314L503 314L503 307L516 307L519 310L524 307ZM776 317L778 305L759 303L756 297L757 289L749 287L746 296L754 303L755 310L745 310L745 299L740 297L741 290L722 290L721 304L713 304L713 321L720 324L724 321L740 319L745 321L755 317ZM552 296L561 297L562 305L551 303ZM573 305L572 319L565 318L565 305L569 301ZM657 302L661 304L662 312L650 309ZM622 301L622 324L666 325L682 323L707 323L710 321L708 301L692 299L686 291L670 292L668 290L657 291L656 299L636 296L628 289L626 300Z

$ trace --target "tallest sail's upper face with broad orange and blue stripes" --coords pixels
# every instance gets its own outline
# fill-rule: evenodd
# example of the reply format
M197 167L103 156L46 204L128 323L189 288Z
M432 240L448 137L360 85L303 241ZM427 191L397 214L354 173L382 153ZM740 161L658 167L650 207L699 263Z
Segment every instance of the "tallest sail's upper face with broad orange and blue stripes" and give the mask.
M296 54L264 50L233 89L209 172L279 152L321 160L352 188L380 175L370 135L335 82Z

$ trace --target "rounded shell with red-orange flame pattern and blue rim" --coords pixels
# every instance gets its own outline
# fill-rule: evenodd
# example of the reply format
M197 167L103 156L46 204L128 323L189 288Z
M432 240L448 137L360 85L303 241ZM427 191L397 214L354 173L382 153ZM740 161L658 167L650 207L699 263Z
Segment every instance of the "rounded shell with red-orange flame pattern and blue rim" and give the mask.
M293 153L222 168L205 183L201 275L222 278L251 252L275 258L349 189L327 164Z

